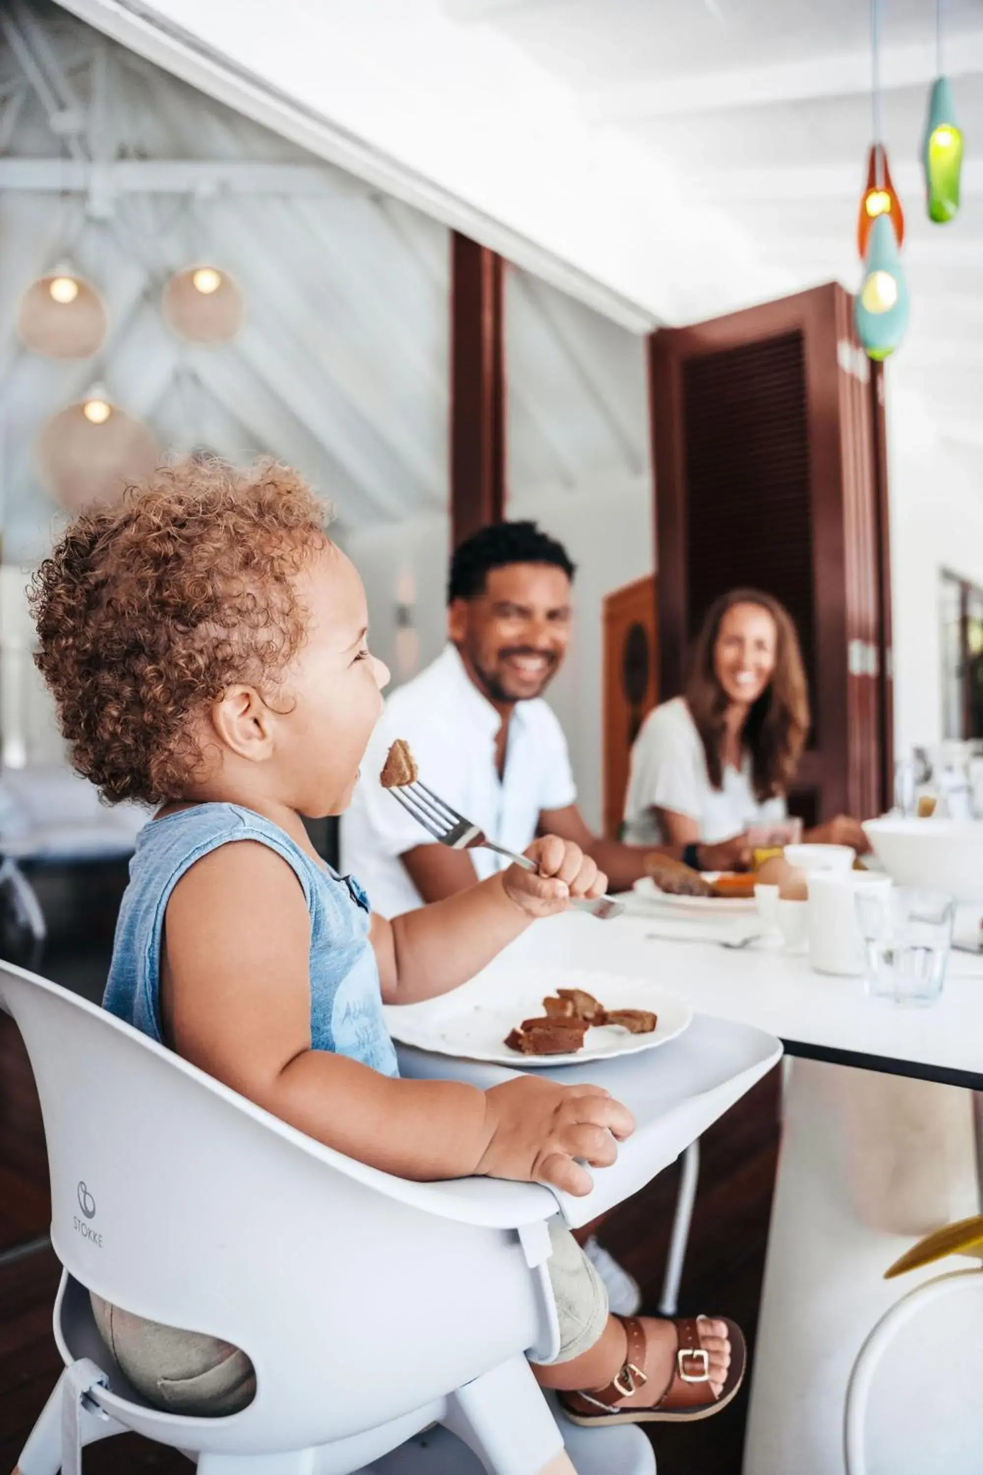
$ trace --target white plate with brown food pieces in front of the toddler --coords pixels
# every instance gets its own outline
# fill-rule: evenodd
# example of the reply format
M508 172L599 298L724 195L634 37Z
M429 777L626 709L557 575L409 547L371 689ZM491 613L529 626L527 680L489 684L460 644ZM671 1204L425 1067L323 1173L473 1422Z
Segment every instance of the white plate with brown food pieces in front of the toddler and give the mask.
M386 1007L393 1040L492 1065L579 1065L635 1055L681 1034L693 1010L641 978L528 969L423 1004Z

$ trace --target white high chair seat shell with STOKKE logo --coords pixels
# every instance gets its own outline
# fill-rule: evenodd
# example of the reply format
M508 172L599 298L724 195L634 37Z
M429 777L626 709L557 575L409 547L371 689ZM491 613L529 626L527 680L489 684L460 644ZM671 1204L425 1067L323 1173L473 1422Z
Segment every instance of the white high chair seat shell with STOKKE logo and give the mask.
M62 1264L116 1305L252 1358L256 1397L208 1420L212 1448L327 1444L548 1342L516 1233L551 1217L545 1189L392 1179L1 963L0 1006L37 1078ZM112 1392L99 1401L113 1412ZM140 1422L153 1437L171 1417Z

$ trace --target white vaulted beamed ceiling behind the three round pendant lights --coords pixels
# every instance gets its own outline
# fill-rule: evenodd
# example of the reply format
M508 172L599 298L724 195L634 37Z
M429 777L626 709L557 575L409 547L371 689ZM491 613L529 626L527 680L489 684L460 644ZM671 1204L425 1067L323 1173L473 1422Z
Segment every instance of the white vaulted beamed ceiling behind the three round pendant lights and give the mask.
M168 450L298 465L335 502L342 531L444 509L447 229L46 0L13 0L9 15L15 31L0 32L4 558L43 552L56 509L35 476L37 431L93 381ZM75 105L78 133L52 130L52 99L46 108L29 75L37 65L62 105L66 96ZM106 298L109 336L90 361L40 358L16 338L24 288L63 255ZM184 345L161 316L168 274L202 258L245 294L246 324L225 347ZM594 472L644 471L641 341L520 271L508 280L507 326L513 484L576 487Z

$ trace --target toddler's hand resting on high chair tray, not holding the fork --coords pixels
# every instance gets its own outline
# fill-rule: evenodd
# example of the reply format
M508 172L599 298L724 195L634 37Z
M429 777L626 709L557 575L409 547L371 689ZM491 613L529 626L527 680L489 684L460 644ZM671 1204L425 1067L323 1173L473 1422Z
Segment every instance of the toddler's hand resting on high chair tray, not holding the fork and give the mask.
M594 1181L576 1158L609 1167L618 1142L635 1122L626 1106L601 1086L559 1086L542 1075L520 1075L485 1092L491 1125L477 1164L492 1179L551 1183L566 1193L590 1193Z

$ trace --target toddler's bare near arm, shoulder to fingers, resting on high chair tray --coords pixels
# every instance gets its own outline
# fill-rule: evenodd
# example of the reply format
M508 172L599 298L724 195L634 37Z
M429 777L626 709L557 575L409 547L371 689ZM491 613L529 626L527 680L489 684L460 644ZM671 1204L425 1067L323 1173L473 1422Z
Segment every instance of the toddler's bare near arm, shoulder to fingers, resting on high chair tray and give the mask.
M240 841L199 860L167 909L161 993L178 1055L346 1156L407 1179L472 1173L587 1193L631 1114L600 1087L523 1075L489 1092L401 1081L311 1049L309 917L296 876Z

